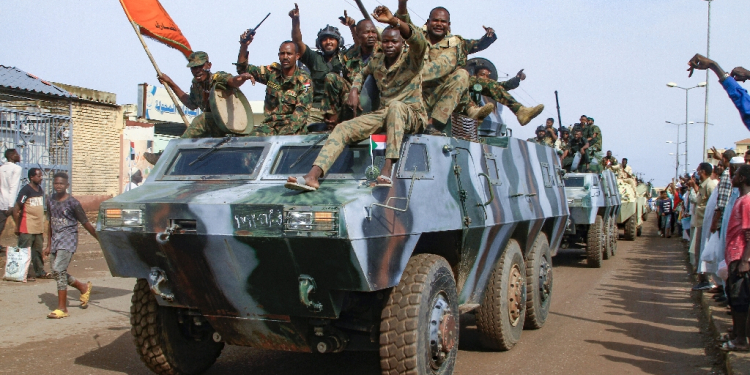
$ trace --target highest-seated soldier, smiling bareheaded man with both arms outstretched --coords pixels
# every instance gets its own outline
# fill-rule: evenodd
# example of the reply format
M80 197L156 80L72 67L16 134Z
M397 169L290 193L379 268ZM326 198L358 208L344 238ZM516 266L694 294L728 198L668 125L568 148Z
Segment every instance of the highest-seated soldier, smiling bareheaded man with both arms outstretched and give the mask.
M411 23L406 2L399 0L396 16ZM422 71L422 97L429 114L427 133L441 134L454 111L477 120L487 117L495 105L488 103L478 107L471 101L468 94L469 74L459 68L466 65L466 51L481 51L497 39L495 31L485 28L486 34L481 40L467 45L460 36L448 35L450 13L443 7L432 9L426 26L426 31L420 32L425 33L429 42L429 53L425 56L427 61Z

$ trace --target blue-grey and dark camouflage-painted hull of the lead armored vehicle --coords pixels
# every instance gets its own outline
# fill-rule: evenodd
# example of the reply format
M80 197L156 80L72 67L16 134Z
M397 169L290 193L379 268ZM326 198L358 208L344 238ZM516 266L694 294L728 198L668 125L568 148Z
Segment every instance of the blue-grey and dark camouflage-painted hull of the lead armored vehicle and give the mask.
M357 296L372 297L377 308L372 292L395 286L414 252L446 257L456 270L459 304L475 305L511 238L525 252L540 232L553 252L562 239L568 206L549 147L411 135L392 188L331 174L316 192L285 189L288 176L272 174L281 148L306 148L320 137L233 138L222 148L263 148L250 175L189 178L165 173L181 150L209 149L218 139L173 140L142 186L101 205L97 232L112 274L147 278L158 267L168 279L162 290L175 296L159 303L199 311L227 343L311 351L314 321L345 319L345 302ZM391 201L406 208L373 205L389 197L406 198ZM108 226L105 212L113 208L138 209L143 223ZM338 226L290 230L285 222L296 211L336 213ZM157 241L176 220L194 220L194 228ZM315 280L310 296L319 311L301 303L301 275Z

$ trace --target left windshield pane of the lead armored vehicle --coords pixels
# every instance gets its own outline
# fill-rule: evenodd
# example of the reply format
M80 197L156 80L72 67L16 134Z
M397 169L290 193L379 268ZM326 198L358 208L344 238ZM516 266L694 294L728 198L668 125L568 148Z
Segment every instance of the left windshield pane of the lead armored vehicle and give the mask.
M263 147L230 147L217 149L190 165L207 148L181 149L166 176L226 176L252 175L260 161Z

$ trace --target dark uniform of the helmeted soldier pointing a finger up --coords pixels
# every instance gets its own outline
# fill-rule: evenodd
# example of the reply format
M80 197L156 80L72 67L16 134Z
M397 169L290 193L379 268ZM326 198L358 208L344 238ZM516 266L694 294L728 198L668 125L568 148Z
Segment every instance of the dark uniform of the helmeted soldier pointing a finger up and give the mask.
M326 86L341 87L343 89L344 81L341 79L341 72L344 70L344 64L341 61L341 53L336 53L331 61L326 62L323 58L323 54L317 51L313 51L310 46L305 45L305 53L300 56L299 61L305 64L310 69L310 78L312 78L312 107L310 108L310 116L307 119L308 124L315 122L323 122L323 115L326 107L341 106L340 98L342 97L341 91L333 90L330 97L327 97ZM336 92L338 91L338 92ZM333 110L330 111L333 113Z

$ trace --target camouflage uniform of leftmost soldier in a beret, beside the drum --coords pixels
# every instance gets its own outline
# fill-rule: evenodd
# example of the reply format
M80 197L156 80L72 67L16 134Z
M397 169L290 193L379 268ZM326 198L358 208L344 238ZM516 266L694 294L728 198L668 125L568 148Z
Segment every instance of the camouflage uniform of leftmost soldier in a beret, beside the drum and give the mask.
M223 137L226 135L214 122L208 96L211 93L211 87L214 85L220 89L226 89L227 81L230 78L232 78L232 75L226 72L216 72L209 76L209 79L205 82L198 82L193 78L193 83L190 85L188 103L185 103L185 105L187 107L200 108L203 113L196 116L190 122L190 126L185 129L181 138Z

